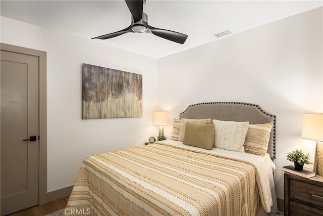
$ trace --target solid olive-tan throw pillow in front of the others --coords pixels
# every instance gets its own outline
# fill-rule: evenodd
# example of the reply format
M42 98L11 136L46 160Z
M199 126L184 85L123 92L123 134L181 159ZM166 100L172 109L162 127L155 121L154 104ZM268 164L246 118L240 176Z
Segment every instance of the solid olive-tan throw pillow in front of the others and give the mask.
M214 143L214 124L187 122L183 144L211 150Z

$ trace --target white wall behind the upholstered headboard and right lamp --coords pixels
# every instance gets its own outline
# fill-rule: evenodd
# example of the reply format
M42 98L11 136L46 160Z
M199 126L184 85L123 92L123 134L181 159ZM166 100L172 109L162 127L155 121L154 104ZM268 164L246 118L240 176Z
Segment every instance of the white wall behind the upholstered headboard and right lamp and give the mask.
M276 190L296 148L314 160L315 142L301 138L303 113L323 111L322 8L158 59L158 107L172 117L200 102L248 102L277 116ZM188 37L189 40L189 37ZM165 128L170 136L171 126Z

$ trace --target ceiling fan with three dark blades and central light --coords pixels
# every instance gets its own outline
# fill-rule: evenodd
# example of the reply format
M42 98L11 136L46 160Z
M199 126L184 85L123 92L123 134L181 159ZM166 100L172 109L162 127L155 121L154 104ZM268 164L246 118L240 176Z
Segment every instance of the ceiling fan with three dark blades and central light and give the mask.
M128 32L137 32L137 33L147 32L159 37L163 37L168 40L172 40L179 44L184 44L187 38L186 34L182 34L171 30L166 30L166 29L155 28L148 25L148 16L147 14L143 13L144 3L146 3L146 0L140 0L140 1L126 0L126 4L132 15L131 25L128 28L125 28L123 30L110 33L110 34L104 34L98 37L93 37L92 39L109 39Z

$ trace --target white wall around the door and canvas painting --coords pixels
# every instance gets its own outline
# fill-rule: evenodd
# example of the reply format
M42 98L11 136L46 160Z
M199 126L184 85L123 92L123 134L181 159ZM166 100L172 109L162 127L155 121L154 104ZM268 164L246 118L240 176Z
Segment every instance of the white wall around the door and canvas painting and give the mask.
M88 155L143 145L158 128L156 60L1 17L1 42L47 52L47 191L74 184ZM143 117L82 120L82 63L142 74Z

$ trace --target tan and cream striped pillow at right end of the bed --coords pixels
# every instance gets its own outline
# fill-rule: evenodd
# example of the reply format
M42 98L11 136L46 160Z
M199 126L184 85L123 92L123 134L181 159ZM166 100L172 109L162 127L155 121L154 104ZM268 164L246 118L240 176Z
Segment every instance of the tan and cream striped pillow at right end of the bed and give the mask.
M273 122L265 124L249 124L244 142L246 153L264 156L268 149Z

